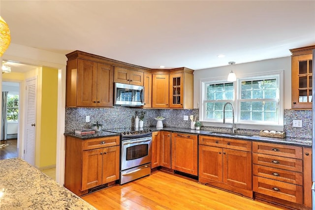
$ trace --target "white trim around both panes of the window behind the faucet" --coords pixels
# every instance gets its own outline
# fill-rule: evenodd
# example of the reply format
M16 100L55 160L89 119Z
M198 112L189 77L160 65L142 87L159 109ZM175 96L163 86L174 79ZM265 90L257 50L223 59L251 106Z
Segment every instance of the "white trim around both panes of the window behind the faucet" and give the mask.
M250 73L250 74L238 74L237 81L234 82L234 87L236 88L236 91L234 91L234 112L239 112L238 109L238 97L237 92L239 91L239 81L244 79L250 79L250 78L257 78L257 77L263 77L263 76L270 76L270 75L279 75L279 124L252 124L246 123L246 122L238 122L238 117L235 118L235 125L236 128L242 128L242 129L254 129L254 130L277 130L277 131L283 131L284 130L284 70L276 70L276 71L266 71L266 72L258 72L258 73ZM204 120L204 104L203 104L203 98L205 97L205 91L203 90L203 85L205 82L216 82L226 83L226 77L213 77L213 78L205 78L199 80L199 119L202 122L202 125L204 126L213 126L213 127L232 127L232 123L225 123L222 122L216 122L216 121L206 121ZM235 84L236 83L236 84ZM239 116L237 114L237 116Z

